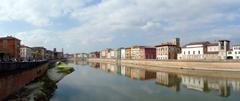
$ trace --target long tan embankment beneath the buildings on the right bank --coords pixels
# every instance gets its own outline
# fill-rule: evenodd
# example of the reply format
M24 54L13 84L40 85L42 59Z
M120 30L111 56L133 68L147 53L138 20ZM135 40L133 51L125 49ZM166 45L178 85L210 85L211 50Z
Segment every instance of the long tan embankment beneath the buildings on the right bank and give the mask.
M141 65L159 68L190 69L207 71L240 71L240 61L157 61L157 60L116 60L89 59L89 62L117 63L122 65Z

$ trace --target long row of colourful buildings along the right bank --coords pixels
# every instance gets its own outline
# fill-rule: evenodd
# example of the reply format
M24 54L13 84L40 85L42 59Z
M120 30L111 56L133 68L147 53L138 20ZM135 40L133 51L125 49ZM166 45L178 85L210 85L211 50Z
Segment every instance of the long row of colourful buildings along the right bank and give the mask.
M229 40L191 42L180 46L180 38L155 46L131 46L91 52L89 58L157 59L157 60L225 60L240 59L240 44L230 47Z

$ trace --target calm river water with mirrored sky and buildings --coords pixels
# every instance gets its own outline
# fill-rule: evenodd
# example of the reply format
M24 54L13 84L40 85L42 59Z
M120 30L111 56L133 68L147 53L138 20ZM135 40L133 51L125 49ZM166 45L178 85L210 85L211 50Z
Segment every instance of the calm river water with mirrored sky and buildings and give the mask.
M106 63L69 65L75 71L57 84L51 101L240 101L240 76L229 78L232 73L208 76L204 71L195 75L194 70L171 73Z

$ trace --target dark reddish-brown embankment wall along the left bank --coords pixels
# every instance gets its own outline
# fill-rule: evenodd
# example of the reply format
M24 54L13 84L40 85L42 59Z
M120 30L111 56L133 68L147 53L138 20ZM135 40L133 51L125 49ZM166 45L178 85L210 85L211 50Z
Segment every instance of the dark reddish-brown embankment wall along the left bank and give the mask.
M48 69L49 63L36 64L23 64L21 66L22 68L25 68L24 70L14 71L11 73L0 73L0 100L6 98L37 77L43 75ZM7 66L6 64L4 65ZM10 66L13 66L12 68L15 68L14 65L20 64L10 64ZM26 68L24 65L29 67ZM30 65L32 65L32 67Z

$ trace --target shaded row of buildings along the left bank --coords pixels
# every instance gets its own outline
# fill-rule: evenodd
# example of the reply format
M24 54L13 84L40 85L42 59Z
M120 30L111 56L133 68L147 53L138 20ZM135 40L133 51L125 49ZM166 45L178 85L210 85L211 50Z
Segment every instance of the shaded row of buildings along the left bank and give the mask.
M7 61L40 61L63 58L56 48L47 50L44 47L21 45L21 40L12 36L0 37L0 62Z

